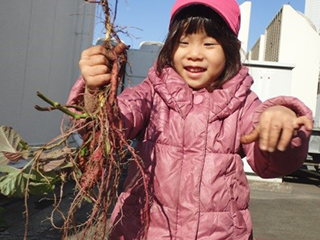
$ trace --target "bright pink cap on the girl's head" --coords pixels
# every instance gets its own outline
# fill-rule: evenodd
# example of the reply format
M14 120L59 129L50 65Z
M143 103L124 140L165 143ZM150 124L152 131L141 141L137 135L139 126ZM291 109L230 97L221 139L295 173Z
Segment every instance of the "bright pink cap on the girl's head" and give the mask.
M212 8L238 36L240 29L240 8L236 0L177 0L171 9L170 22L179 10L192 4L203 4Z

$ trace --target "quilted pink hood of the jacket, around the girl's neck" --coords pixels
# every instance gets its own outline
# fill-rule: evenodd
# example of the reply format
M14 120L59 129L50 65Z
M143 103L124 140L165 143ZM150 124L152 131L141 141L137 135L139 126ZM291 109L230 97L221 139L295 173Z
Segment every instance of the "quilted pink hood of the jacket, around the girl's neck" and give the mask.
M192 90L173 69L166 68L161 76L157 76L155 67L148 73L155 91L167 103L167 105L179 112L185 118L193 107L194 90ZM236 76L227 81L221 88L208 92L200 89L198 94L211 99L209 106L209 121L223 119L237 110L247 97L248 91L253 83L248 74L248 68L242 67Z

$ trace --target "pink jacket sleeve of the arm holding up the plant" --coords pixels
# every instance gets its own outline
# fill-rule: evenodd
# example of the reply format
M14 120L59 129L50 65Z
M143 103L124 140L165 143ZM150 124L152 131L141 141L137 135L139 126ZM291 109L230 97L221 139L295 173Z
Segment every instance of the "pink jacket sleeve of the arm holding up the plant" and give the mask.
M143 129L149 119L152 105L153 87L148 78L132 88L125 89L118 97L120 115L125 123L126 137L133 139ZM85 96L85 81L80 76L73 85L67 105L78 105ZM76 110L73 110L76 112ZM83 120L77 120L78 126Z

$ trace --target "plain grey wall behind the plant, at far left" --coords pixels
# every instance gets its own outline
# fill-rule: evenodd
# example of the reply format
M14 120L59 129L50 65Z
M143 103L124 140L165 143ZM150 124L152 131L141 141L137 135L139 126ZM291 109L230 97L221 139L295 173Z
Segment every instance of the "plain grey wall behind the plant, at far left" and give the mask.
M10 0L0 3L0 125L29 143L60 134L59 111L36 95L65 103L82 50L92 43L95 4L84 0Z

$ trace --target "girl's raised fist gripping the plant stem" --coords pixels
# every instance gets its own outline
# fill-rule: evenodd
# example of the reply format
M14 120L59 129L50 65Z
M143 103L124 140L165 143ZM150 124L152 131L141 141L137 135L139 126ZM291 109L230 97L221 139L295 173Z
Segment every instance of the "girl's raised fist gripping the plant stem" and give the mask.
M112 51L100 45L82 52L79 67L89 89L94 90L110 82L111 64L114 59Z

